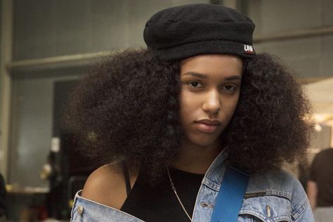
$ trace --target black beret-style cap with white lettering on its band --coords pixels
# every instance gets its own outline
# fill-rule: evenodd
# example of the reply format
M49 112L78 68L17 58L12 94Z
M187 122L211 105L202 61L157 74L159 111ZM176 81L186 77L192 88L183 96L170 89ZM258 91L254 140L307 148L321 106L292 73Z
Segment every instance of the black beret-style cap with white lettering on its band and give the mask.
M256 55L254 22L226 6L189 4L166 8L146 22L143 39L161 60L202 54Z

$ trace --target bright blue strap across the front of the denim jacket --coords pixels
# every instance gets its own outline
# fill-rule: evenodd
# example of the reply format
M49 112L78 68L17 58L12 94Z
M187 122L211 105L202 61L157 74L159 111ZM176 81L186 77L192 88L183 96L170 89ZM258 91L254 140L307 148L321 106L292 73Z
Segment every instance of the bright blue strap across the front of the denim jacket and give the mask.
M211 215L211 222L237 221L243 197L249 183L249 175L228 167L223 176L216 204Z

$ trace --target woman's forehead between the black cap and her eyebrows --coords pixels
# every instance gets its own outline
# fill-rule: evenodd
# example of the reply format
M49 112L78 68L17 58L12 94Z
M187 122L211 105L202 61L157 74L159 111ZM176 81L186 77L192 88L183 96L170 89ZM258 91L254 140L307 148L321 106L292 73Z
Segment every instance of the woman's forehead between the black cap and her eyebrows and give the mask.
M181 61L181 76L188 72L206 75L241 75L242 59L235 55L197 55Z

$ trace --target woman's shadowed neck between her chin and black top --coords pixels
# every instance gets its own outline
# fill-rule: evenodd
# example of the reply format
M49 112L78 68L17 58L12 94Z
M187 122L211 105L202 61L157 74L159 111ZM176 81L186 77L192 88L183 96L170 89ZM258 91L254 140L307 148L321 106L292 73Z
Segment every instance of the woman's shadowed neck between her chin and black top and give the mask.
M222 150L223 148L221 148L219 143L202 147L185 141L176 161L171 164L171 166L192 174L205 174L211 163Z

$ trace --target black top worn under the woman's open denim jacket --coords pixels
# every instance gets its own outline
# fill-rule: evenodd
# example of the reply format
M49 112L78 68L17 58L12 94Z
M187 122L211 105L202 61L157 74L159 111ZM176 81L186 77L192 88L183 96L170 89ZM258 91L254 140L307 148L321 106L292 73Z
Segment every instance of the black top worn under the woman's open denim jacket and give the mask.
M178 196L186 211L192 217L203 174L191 174L178 169L169 169ZM128 180L128 178L126 179ZM157 187L144 183L138 175L133 189L126 198L122 211L143 221L190 221L171 188L167 171Z

